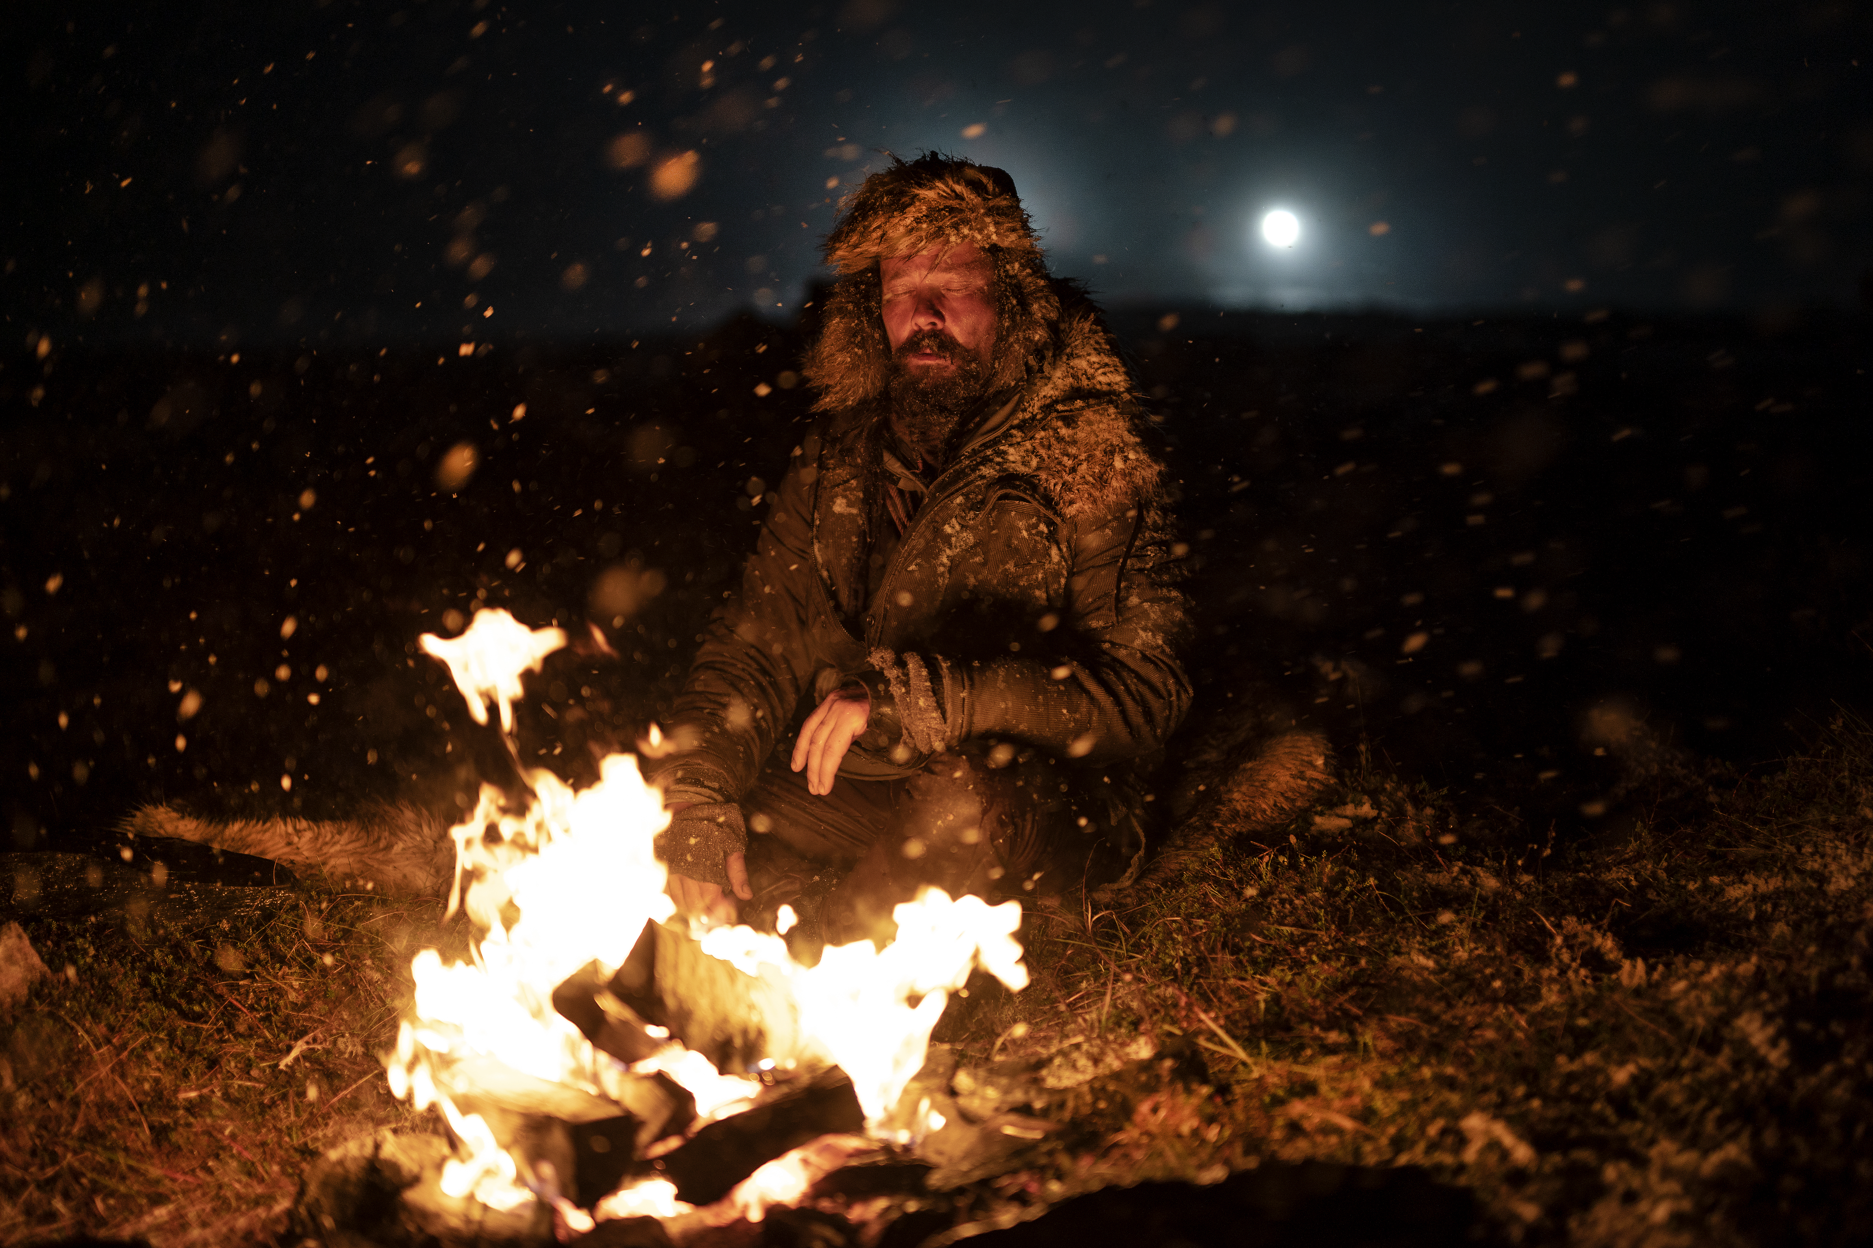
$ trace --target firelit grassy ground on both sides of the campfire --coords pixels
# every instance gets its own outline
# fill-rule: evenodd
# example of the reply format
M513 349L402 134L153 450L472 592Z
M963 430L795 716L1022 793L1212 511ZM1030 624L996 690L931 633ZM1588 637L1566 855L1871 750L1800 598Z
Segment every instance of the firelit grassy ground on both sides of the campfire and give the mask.
M1036 917L1034 986L942 1035L1159 1057L1060 1093L1064 1139L991 1186L1418 1164L1512 1241L1864 1242L1873 730L1691 797L1553 849L1367 771L1174 887ZM268 1241L307 1158L406 1121L375 1053L438 907L245 896L28 921L73 973L6 1023L0 1241Z

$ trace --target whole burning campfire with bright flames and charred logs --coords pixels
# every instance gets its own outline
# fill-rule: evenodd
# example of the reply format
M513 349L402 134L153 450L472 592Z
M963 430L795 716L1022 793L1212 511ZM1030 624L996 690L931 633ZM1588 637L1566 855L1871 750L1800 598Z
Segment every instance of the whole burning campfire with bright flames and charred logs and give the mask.
M472 924L472 956L416 956L388 1057L391 1091L448 1125L440 1197L551 1220L562 1241L633 1216L680 1233L759 1222L858 1154L940 1132L944 1113L907 1087L974 967L1026 986L1019 904L927 891L882 951L815 965L789 949L787 907L779 932L684 921L652 848L669 812L637 758L605 758L579 791L519 762L521 675L566 640L504 610L421 638L515 763L451 833L450 915Z

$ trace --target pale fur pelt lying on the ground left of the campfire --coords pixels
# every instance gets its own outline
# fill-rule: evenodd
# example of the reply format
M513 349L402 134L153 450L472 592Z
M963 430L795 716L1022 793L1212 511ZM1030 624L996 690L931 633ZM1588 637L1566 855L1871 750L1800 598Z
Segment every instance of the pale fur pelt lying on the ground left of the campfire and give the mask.
M120 831L251 853L335 887L446 896L455 878L453 821L410 803L369 803L348 820L217 820L174 806L139 806Z

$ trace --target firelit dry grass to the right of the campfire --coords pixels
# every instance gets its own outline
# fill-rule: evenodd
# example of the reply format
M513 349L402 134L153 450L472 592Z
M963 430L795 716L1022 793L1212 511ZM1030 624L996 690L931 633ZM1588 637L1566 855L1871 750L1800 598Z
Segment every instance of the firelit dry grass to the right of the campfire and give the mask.
M1030 924L1036 984L951 1038L1163 1057L1060 1102L1079 1130L1008 1183L1418 1164L1512 1242L1867 1242L1873 732L1712 795L1545 853L1358 775L1274 844Z

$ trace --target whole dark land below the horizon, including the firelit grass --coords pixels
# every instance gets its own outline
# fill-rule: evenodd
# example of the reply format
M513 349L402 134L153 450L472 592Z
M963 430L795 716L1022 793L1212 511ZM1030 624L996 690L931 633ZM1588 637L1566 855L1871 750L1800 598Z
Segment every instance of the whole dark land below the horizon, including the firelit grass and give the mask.
M687 1242L1866 1235L1864 318L1114 326L1199 621L1165 823L1244 704L1339 782L1032 911L1034 986L951 1005L942 1052L1060 1134ZM523 752L633 748L805 428L809 329L7 359L0 909L51 975L0 1239L298 1242L322 1151L435 1130L376 1053L410 954L459 949L440 904L116 825L468 801L487 735L414 642L483 601L616 651L549 659Z

